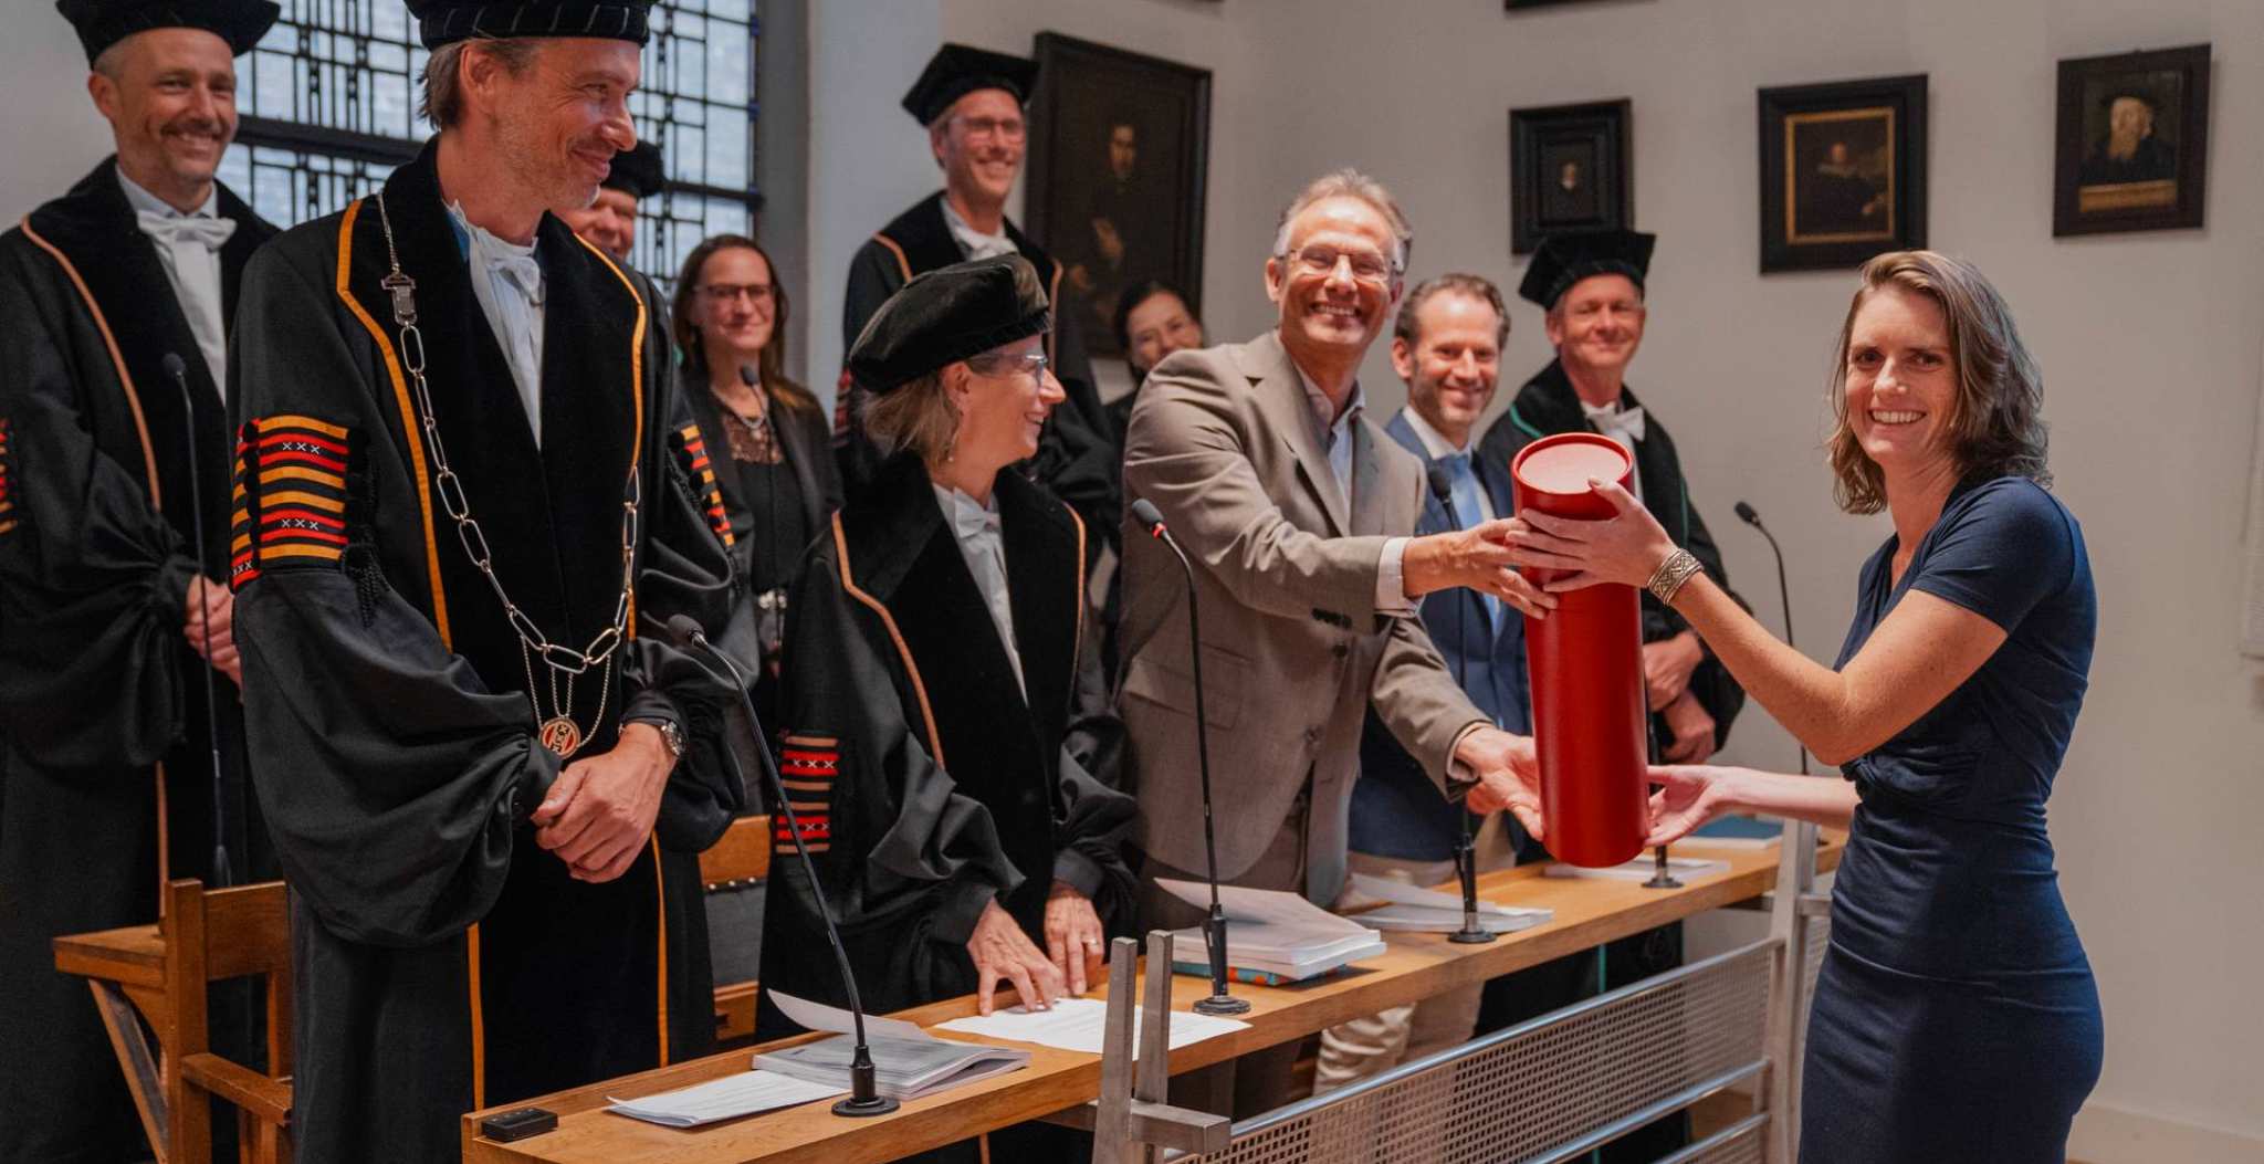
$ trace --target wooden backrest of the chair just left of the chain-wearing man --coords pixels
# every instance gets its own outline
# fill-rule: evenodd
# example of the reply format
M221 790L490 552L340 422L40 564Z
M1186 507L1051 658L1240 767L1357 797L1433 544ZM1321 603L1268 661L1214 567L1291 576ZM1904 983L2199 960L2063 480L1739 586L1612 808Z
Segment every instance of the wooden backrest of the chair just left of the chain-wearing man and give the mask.
M290 897L281 881L206 890L201 881L165 883L165 994L172 999L172 1037L165 1039L168 1159L211 1155L211 1105L181 1082L181 1064L213 1049L206 985L224 978L265 978L267 1078L292 1071L292 958Z

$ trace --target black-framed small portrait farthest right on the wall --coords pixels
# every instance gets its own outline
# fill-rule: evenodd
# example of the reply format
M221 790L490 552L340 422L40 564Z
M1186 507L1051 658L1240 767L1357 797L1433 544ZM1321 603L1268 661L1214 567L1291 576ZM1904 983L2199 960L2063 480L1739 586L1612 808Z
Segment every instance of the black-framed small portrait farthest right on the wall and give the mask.
M2201 226L2210 45L2060 61L2051 233Z

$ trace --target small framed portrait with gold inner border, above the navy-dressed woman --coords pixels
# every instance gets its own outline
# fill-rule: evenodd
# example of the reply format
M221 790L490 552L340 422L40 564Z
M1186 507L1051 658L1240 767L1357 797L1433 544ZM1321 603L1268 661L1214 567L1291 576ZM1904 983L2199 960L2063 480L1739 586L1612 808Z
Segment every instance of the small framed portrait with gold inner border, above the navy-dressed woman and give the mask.
M1924 245L1924 75L1761 91L1761 272Z

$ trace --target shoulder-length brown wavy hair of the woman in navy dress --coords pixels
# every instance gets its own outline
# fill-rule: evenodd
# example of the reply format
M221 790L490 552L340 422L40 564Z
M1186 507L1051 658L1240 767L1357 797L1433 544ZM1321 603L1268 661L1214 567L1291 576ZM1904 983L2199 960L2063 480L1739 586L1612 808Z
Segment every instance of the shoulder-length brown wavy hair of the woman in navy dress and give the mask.
M1877 514L1886 507L1886 476L1863 453L1847 421L1845 383L1854 317L1872 294L1888 288L1931 299L1949 324L1949 362L1958 369L1958 387L1947 430L1958 476L2017 476L2051 485L2044 455L2044 371L2019 342L2013 308L1981 269L1936 251L1888 251L1866 263L1861 279L1863 285L1847 303L1825 387L1834 421L1825 437L1825 460L1836 478L1832 494L1841 510Z

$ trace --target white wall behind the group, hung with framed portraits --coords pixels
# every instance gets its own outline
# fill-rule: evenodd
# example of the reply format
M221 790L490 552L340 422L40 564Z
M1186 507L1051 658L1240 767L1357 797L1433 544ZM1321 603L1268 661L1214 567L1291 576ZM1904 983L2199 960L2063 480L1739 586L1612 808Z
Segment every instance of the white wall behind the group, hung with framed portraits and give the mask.
M2092 695L2053 797L2063 885L2099 972L2106 1078L2078 1155L2264 1159L2250 1049L2264 1008L2257 863L2264 670L2237 654L2244 485L2264 378L2264 5L2255 0L1621 0L1506 16L1499 0L906 0L826 5L813 299L838 310L865 233L935 188L894 97L933 34L1028 52L1037 32L1211 68L1204 303L1214 337L1266 326L1259 265L1304 179L1361 165L1415 220L1415 274L1510 285L1508 109L1635 100L1637 224L1657 231L1632 383L1673 426L1730 573L1829 661L1854 571L1886 534L1832 507L1823 380L1847 272L1757 274L1755 88L1931 75L1931 242L1976 260L2047 369L2058 494L2101 596ZM829 34L847 45L829 45ZM2216 45L2210 229L2051 238L2060 57ZM833 68L826 68L833 61ZM883 79L885 77L885 79ZM835 118L826 131L826 115ZM824 186L831 183L831 186ZM838 213L831 213L838 208ZM826 308L820 308L826 310ZM838 340L835 340L838 344ZM838 346L813 342L813 367ZM1506 367L1549 358L1519 303ZM1370 358L1372 401L1401 399ZM1515 383L1510 385L1515 387ZM1757 707L1730 759L1789 768Z

